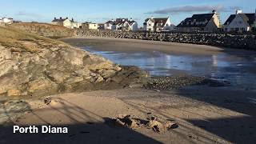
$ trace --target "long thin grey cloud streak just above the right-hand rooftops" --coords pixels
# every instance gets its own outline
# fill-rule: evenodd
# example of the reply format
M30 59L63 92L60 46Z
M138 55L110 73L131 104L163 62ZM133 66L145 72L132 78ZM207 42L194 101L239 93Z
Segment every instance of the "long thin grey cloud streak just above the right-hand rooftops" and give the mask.
M208 12L212 10L229 12L234 9L240 8L239 6L230 6L225 7L222 5L218 6L178 6L178 7L169 7L162 10L155 10L147 14L179 14L179 13L191 13L191 12Z

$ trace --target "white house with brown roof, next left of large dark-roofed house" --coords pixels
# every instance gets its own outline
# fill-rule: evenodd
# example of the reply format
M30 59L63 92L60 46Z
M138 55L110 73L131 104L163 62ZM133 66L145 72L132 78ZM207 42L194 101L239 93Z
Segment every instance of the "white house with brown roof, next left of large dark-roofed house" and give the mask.
M143 23L143 30L151 32L171 31L174 27L170 18L146 18Z

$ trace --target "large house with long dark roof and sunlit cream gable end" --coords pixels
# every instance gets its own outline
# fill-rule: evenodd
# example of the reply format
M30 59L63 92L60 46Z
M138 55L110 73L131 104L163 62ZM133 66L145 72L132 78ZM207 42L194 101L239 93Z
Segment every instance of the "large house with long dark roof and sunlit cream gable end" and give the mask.
M220 18L215 10L210 14L194 14L191 18L186 18L177 26L177 30L182 32L217 32L220 28Z

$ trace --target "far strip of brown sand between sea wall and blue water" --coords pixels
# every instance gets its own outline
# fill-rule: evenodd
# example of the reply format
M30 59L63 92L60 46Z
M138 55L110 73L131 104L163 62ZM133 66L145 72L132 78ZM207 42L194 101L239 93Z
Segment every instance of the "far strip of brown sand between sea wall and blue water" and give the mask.
M166 54L193 54L193 55L213 55L213 54L239 54L248 53L256 54L251 50L238 50L233 48L225 48L219 46L207 46L198 45L192 43L180 43L180 42L160 42L151 40L140 40L131 38L98 38L98 37L70 37L60 38L59 40L68 42L69 40L88 40L90 42L96 42L96 50L105 51L121 51L121 52L134 52L134 51L150 51L158 50ZM101 41L101 42L98 42ZM98 43L97 43L98 42ZM102 47L101 45L104 45ZM118 48L119 47L119 48ZM129 47L129 49L122 49L122 47ZM136 48L134 48L136 47Z

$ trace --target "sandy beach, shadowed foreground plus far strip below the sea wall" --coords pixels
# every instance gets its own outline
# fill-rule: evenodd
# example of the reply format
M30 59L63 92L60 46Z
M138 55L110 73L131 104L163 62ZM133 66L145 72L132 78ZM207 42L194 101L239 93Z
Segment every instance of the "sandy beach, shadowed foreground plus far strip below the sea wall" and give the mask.
M98 50L160 50L199 55L254 53L168 42L89 40ZM174 90L126 87L43 98L1 98L0 143L255 143L255 94L255 90L232 86L183 86ZM48 105L44 102L46 98L51 99ZM130 130L111 122L118 114L141 119L153 114L159 121L177 123L178 128L163 134L145 127ZM69 133L13 134L14 125L67 126Z

